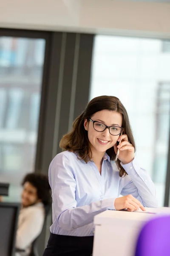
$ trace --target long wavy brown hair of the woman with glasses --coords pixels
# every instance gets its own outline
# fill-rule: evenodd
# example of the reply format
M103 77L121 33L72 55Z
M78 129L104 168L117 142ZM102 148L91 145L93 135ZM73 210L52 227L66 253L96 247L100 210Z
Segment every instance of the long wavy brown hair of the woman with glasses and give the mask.
M77 153L78 158L84 160L86 163L91 161L92 151L90 148L90 142L88 140L88 132L84 128L84 120L88 119L89 122L89 118L91 118L91 116L104 109L116 111L122 114L123 133L127 134L129 142L135 148L135 141L130 127L127 111L120 100L114 96L99 96L92 99L88 103L85 111L83 111L82 114L74 120L72 131L68 132L62 137L59 143L60 148L62 148L62 150ZM113 147L109 148L106 153L109 155L111 160L115 160L116 154ZM125 176L127 173L121 166L119 159L116 161L116 165L119 169L119 176Z

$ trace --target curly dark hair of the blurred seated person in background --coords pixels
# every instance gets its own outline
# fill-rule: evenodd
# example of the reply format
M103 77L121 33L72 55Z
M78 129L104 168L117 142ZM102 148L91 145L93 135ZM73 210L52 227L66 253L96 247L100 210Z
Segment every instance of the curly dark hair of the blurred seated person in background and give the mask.
M22 186L31 183L37 189L37 196L44 206L51 204L51 187L48 182L48 176L42 173L28 173L22 182Z

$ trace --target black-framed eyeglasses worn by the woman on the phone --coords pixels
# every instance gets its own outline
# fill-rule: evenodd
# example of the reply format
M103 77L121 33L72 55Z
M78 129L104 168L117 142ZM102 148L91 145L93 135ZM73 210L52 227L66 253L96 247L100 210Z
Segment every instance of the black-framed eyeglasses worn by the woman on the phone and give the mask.
M99 132L105 131L108 128L110 134L116 136L116 135L121 134L121 132L123 131L122 127L119 127L119 126L116 126L116 125L107 126L107 125L103 124L102 122L94 121L94 120L91 120L90 118L89 118L89 120L91 122L93 122L94 130L99 131Z

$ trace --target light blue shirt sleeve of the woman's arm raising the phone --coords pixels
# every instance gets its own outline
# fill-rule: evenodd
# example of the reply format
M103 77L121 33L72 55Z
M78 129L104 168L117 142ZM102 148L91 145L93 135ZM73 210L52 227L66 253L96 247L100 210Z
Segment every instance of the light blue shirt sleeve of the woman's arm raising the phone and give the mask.
M122 188L121 195L133 195L144 207L157 207L156 190L147 171L140 168L136 158L128 163L122 164L130 181Z

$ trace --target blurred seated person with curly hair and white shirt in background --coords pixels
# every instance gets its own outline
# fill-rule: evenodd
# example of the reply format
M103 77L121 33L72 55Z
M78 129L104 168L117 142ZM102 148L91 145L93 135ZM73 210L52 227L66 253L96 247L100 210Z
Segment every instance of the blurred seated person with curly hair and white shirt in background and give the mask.
M28 256L32 242L40 235L45 219L45 209L51 205L51 188L48 177L29 173L24 177L17 236L16 256Z

